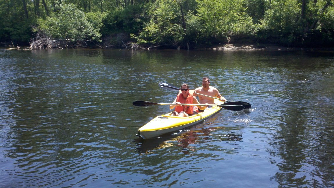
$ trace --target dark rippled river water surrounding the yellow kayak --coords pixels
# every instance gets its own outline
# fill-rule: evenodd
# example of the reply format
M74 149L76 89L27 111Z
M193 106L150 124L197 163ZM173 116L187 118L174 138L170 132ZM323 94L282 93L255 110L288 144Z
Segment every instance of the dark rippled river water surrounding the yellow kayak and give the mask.
M136 136L203 76L252 108ZM334 187L330 51L0 49L0 81L0 187Z

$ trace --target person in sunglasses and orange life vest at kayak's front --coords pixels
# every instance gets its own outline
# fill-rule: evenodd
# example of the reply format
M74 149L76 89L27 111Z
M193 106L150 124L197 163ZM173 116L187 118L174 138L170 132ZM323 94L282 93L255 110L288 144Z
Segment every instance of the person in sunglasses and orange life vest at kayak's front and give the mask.
M204 110L208 107L209 104L205 104L205 106L181 106L181 104L199 104L196 97L192 96L189 93L189 86L187 84L182 84L181 86L181 93L179 93L174 100L173 104L170 105L169 108L175 108L174 112L172 112L171 116L178 116L178 117L189 117L193 114L197 113L197 110L202 109Z

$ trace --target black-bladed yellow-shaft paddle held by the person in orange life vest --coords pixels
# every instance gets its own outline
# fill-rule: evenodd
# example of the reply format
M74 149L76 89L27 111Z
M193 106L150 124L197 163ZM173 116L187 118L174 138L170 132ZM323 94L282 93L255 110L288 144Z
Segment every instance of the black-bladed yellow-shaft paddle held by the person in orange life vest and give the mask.
M153 103L153 102L148 102L148 101L134 101L132 103L133 105L137 107L148 107L148 106L153 106L153 105L176 105L173 103ZM181 104L181 106L205 106L203 104ZM221 107L226 110L231 110L231 111L240 111L243 110L244 107L242 106L242 103L240 102L228 102L224 103L223 105L209 105L212 107Z

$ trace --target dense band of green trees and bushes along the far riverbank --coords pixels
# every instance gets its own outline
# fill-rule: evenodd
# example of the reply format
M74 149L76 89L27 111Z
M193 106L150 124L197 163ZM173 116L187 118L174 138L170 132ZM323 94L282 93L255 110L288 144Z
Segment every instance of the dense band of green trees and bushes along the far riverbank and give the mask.
M105 47L334 44L332 0L1 1L0 41L22 45L40 33Z

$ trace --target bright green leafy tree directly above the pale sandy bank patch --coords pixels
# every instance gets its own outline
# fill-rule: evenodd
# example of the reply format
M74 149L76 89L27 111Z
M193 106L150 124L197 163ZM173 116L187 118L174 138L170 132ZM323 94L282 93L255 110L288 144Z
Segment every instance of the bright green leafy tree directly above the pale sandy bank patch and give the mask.
M256 29L243 3L243 0L198 0L200 34L218 42L231 36L253 35Z

